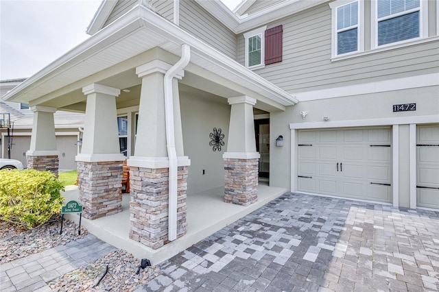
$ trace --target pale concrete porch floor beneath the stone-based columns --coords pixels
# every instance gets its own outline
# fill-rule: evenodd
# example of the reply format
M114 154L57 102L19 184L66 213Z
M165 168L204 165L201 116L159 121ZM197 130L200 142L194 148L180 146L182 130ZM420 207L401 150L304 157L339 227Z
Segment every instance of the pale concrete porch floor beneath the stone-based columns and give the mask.
M157 265L287 191L285 188L268 186L265 182L259 182L258 189L258 201L246 207L224 203L224 187L187 195L187 234L158 250L152 250L150 247L129 239L130 194L128 193L123 194L122 212L95 220L82 218L81 226L106 243L126 250L137 258L148 258L153 265ZM63 195L64 203L71 200L78 201L78 187L67 187ZM79 223L80 220L79 214L75 213L65 214L64 217L75 223Z

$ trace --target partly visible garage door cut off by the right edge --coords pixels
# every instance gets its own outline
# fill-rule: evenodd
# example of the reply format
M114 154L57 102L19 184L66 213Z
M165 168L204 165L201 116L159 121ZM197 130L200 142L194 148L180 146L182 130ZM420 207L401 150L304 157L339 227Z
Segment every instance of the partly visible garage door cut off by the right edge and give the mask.
M416 166L416 204L439 208L439 125L418 127Z

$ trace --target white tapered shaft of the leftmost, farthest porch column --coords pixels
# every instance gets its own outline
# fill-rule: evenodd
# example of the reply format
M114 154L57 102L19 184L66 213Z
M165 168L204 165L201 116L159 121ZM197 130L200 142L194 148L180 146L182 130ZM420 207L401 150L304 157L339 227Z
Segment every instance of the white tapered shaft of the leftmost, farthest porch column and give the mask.
M30 148L27 156L54 156L59 155L56 150L56 134L54 112L56 108L47 106L32 106L34 112L34 125L32 126L32 136Z

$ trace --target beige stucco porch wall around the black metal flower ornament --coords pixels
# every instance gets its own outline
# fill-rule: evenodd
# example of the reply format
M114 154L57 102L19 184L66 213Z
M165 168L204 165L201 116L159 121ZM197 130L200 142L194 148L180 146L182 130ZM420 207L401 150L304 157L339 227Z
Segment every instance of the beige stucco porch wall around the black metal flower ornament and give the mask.
M191 159L187 194L224 186L222 154L227 149L230 106L180 93L180 107L185 156ZM222 147L222 151L213 151L209 146L209 134L213 132L213 127L221 128L225 135L226 145Z

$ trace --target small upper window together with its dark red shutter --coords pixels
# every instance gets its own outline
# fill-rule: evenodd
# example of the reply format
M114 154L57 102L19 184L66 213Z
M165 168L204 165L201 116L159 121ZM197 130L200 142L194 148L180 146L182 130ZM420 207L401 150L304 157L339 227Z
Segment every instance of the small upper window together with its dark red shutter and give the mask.
M246 67L261 68L268 64L282 62L283 27L277 25L270 29L259 27L246 32Z

